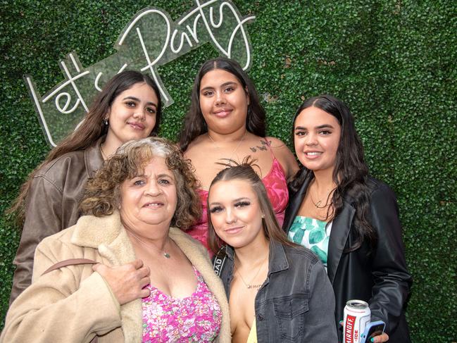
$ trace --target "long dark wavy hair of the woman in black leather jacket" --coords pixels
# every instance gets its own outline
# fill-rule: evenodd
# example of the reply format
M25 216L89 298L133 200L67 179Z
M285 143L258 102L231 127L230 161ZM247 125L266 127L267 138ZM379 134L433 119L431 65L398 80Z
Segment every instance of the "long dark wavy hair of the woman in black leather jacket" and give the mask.
M341 137L337 150L333 181L337 185L334 189L330 208L333 209L333 218L342 211L343 199L351 199L356 208L354 216L354 228L356 230L356 242L346 249L346 252L354 251L361 247L366 239L370 247L375 249L377 234L370 224L370 189L366 183L368 167L363 158L363 145L356 132L354 119L348 106L343 101L332 95L323 94L313 96L301 104L295 113L294 127L292 127L292 142L294 141L295 120L301 111L308 107L317 107L337 118L341 125ZM296 192L305 180L314 177L313 171L301 165L289 187Z

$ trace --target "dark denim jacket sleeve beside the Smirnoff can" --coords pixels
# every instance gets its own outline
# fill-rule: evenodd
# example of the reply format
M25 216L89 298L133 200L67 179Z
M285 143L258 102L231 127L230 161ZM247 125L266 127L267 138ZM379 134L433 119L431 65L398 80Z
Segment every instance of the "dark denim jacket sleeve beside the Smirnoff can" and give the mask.
M311 264L307 283L309 300L303 342L338 342L337 326L334 323L334 292L322 263Z

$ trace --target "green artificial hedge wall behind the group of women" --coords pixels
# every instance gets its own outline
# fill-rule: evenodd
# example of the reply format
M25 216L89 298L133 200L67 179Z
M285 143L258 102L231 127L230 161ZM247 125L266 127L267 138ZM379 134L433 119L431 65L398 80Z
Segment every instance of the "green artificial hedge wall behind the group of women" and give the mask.
M204 2L204 1L201 1ZM265 94L268 134L290 144L302 99L330 93L356 116L371 173L399 199L413 342L457 341L456 32L453 1L241 1L253 46L250 75ZM158 6L176 20L194 1L1 1L0 211L8 208L48 146L22 75L41 94L63 80L57 62L76 51L84 67L115 53L137 11ZM175 99L161 135L174 139L201 63L201 46L160 69ZM0 218L0 313L8 308L20 233ZM452 319L454 318L454 319Z

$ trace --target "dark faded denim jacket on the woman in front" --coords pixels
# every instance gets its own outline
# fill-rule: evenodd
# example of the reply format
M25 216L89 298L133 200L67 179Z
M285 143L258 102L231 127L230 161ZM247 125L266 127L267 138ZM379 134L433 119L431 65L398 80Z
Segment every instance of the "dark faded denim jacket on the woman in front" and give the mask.
M234 249L220 275L227 298ZM255 300L258 342L338 342L334 294L323 264L310 250L270 242L268 276Z

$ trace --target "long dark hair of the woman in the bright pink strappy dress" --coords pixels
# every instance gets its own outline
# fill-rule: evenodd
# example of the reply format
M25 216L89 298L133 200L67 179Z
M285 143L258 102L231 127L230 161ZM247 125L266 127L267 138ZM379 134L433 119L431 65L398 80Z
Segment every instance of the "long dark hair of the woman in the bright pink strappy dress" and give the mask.
M265 137L265 109L263 109L258 99L256 87L237 61L230 58L218 57L206 61L195 77L194 87L192 87L192 103L186 114L186 118L184 118L184 125L178 138L181 151L185 151L190 142L196 139L196 137L208 132L208 126L206 125L203 113L201 113L200 84L201 79L206 73L215 69L222 69L234 75L242 84L243 88L246 89L249 96L246 130L259 137Z

